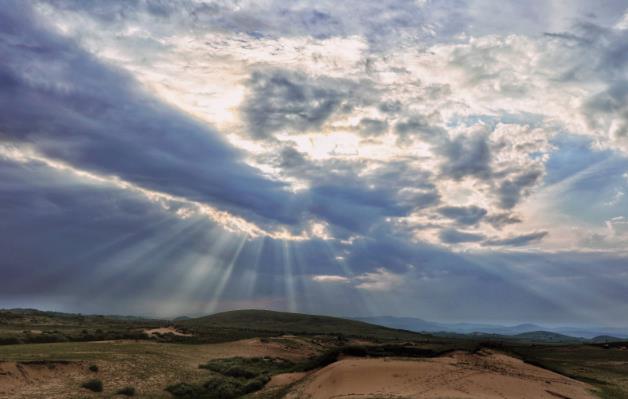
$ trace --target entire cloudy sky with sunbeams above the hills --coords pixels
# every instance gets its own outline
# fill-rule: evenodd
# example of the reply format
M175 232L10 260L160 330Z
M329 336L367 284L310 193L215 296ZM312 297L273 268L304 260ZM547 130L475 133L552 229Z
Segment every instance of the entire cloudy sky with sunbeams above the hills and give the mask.
M623 0L0 0L0 307L628 327Z

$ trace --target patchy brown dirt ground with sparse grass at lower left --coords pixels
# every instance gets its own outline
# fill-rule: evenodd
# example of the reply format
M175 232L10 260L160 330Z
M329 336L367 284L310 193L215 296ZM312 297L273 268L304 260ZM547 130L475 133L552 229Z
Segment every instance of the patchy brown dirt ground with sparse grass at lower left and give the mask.
M171 398L164 388L182 381L202 381L207 371L198 366L210 359L270 356L300 360L311 352L305 341L289 338L206 345L150 341L6 345L0 346L0 398L110 397L126 386L136 389L136 397ZM90 371L90 365L98 371ZM103 382L102 394L81 388L92 378Z

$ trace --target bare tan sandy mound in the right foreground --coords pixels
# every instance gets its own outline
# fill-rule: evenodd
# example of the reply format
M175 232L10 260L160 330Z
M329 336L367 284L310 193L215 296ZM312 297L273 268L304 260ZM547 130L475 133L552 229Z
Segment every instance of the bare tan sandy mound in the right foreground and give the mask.
M494 352L435 359L348 358L311 376L290 399L595 398L592 387Z

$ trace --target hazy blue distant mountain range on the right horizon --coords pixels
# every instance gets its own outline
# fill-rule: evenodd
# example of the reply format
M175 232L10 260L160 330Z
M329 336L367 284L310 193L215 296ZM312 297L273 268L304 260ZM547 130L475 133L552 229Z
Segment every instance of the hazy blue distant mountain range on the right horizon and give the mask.
M599 328L583 328L583 327L557 327L550 328L537 324L525 323L514 326L503 326L498 324L481 324L481 323L436 323L420 318L413 317L394 317L394 316L376 316L376 317L357 317L355 320L367 323L379 324L386 327L402 328L410 331L418 332L448 332L457 334L494 334L514 336L518 334L545 331L549 333L561 334L564 336L591 339L597 336L611 336L618 339L628 338L628 329L599 327ZM549 337L549 336L548 336Z

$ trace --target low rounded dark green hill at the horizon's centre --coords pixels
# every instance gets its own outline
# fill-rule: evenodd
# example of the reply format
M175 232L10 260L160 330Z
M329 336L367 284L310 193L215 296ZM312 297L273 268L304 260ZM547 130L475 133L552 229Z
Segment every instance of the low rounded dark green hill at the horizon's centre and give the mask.
M275 334L333 334L374 339L425 340L430 335L397 330L361 321L329 316L274 312L269 310L235 310L176 323L187 330L205 333L216 329L234 329Z

